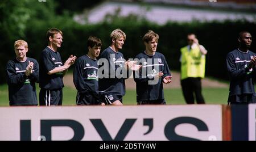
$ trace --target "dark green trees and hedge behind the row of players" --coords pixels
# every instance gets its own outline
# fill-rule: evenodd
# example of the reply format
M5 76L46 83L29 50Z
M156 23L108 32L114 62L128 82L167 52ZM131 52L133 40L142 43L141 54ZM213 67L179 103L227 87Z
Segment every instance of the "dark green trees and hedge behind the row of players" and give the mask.
M13 43L24 39L28 42L27 56L39 59L40 52L46 47L46 32L48 28L59 28L63 31L63 45L59 49L63 60L69 54L77 57L87 53L86 40L90 35L100 37L102 50L110 45L110 32L121 28L127 36L121 52L126 60L134 58L144 50L142 37L149 29L159 34L158 51L163 53L171 70L179 70L180 48L187 45L186 36L189 32L196 33L200 44L208 50L206 73L215 78L228 79L226 74L225 57L228 52L237 48L237 34L249 31L256 37L256 24L245 20L226 20L225 22L191 23L169 22L162 26L148 22L130 14L127 17L107 15L105 20L97 24L81 25L73 21L71 10L82 7L67 6L68 2L47 0L46 2L32 0L2 0L0 2L0 83L5 83L5 66L8 60L15 56ZM64 7L65 6L65 7ZM61 15L57 8L63 8ZM71 8L69 8L71 7ZM251 50L256 50L253 43Z

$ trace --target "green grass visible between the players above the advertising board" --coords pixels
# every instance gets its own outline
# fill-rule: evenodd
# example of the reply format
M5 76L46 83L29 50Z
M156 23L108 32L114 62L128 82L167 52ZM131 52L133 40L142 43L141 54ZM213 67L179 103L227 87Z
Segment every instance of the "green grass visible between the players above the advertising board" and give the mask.
M40 88L37 86L37 92ZM203 95L207 104L226 104L229 88L203 88ZM39 96L38 96L39 97ZM167 104L185 104L180 88L164 90L164 97ZM63 105L75 105L76 90L69 87L63 89ZM136 104L136 91L126 90L123 96L123 104ZM8 106L8 86L0 85L0 106Z

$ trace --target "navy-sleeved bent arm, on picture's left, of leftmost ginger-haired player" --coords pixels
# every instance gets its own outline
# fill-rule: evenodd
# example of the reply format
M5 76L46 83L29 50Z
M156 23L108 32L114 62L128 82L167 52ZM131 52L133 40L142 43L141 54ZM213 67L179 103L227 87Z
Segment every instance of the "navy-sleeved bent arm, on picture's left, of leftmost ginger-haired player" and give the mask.
M23 72L16 73L15 64L12 61L9 61L6 65L7 71L7 83L11 85L22 84L26 81L27 75Z

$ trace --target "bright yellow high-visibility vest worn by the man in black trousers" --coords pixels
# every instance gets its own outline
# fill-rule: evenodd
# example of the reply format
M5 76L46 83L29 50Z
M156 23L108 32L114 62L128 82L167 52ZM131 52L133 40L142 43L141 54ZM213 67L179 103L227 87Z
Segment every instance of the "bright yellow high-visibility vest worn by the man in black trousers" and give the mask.
M194 47L195 46L195 47ZM197 45L188 51L188 46L180 49L181 52L181 80L192 77L204 78L205 55L201 54Z

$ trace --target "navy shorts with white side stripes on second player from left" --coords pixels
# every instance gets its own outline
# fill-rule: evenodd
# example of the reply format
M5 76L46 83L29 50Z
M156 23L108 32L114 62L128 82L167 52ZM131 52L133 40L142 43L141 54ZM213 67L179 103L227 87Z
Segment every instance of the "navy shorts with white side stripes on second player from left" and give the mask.
M62 105L63 92L60 90L46 90L41 88L39 92L39 105Z

